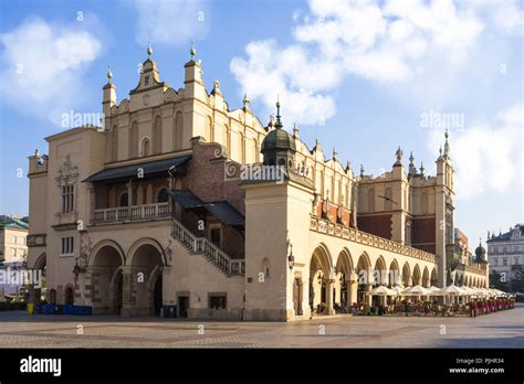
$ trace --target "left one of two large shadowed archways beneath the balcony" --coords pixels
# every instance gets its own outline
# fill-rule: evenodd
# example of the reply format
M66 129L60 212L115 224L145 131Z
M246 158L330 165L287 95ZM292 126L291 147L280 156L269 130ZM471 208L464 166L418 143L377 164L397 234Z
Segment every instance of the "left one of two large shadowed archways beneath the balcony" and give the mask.
M93 309L96 313L118 314L123 300L123 257L113 245L104 245L95 252L90 266Z

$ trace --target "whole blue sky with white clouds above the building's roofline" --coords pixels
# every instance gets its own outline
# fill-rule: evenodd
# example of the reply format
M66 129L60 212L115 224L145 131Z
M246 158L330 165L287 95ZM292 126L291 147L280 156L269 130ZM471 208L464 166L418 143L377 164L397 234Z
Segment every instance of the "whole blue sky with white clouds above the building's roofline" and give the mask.
M160 77L182 86L193 39L208 88L231 109L248 93L266 122L358 173L405 166L434 174L444 129L457 169L455 225L475 244L523 211L522 1L0 0L0 212L28 213L27 157L65 129L61 114L101 111L107 65L118 100L154 49ZM425 117L432 116L429 124ZM447 125L438 118L455 117ZM22 175L22 177L19 177Z

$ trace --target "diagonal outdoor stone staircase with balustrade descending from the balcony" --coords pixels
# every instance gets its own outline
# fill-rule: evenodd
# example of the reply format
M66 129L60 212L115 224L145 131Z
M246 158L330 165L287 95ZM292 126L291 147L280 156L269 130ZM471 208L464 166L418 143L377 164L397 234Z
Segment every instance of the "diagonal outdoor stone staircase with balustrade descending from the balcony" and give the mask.
M186 249L188 249L189 254L201 255L209 263L220 269L220 271L226 276L244 276L244 259L231 258L228 254L226 254L206 237L195 236L192 232L186 228L182 223L177 221L175 217L171 217L171 237L180 243L180 245L182 245Z

